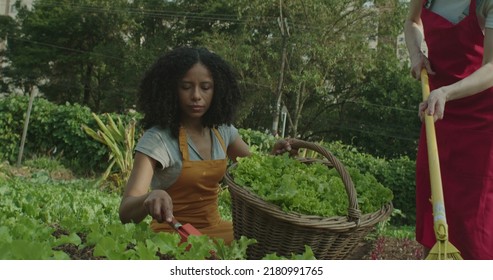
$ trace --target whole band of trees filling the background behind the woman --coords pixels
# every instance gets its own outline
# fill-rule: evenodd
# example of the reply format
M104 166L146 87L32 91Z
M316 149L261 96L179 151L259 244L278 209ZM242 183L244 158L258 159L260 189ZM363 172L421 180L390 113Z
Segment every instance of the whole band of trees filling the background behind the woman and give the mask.
M285 135L411 156L418 85L395 57L404 15L398 0L38 0L8 29L8 76L56 103L121 112L158 56L201 45L237 70L238 126L279 132L286 106Z

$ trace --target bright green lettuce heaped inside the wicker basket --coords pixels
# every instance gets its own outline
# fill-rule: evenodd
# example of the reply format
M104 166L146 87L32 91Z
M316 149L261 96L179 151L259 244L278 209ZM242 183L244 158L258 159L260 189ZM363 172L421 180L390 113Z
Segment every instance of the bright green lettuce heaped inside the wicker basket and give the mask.
M392 191L373 175L351 168L346 170L354 183L363 214L378 211L392 201ZM306 164L287 154L254 153L239 158L229 172L237 185L280 206L283 211L322 217L347 215L348 196L339 173L320 162Z

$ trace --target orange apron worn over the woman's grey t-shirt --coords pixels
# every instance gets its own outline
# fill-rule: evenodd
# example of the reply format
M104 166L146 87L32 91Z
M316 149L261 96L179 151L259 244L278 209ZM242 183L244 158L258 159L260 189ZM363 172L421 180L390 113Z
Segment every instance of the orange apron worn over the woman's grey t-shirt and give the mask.
M223 138L217 129L213 131L226 153ZM233 225L230 221L221 220L218 210L219 181L226 172L227 159L190 160L183 127L178 138L183 166L178 180L166 190L173 200L173 215L180 223L190 223L202 234L222 238L230 244ZM152 220L150 226L154 232L175 232L166 222Z

